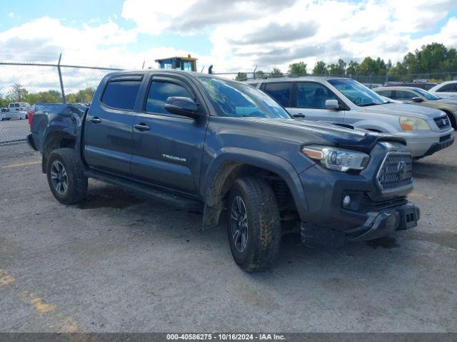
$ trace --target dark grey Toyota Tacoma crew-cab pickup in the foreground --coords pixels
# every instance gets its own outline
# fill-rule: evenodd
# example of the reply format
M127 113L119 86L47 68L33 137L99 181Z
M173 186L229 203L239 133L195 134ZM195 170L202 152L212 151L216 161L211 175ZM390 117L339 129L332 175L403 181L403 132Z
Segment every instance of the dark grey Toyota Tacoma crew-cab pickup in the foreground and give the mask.
M154 77L153 77L154 76ZM403 138L296 120L246 84L184 71L110 73L84 105L35 104L27 140L56 199L87 178L185 209L216 227L247 271L276 258L281 235L339 245L416 226Z

